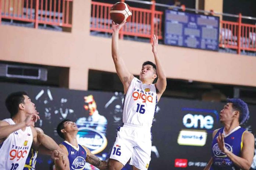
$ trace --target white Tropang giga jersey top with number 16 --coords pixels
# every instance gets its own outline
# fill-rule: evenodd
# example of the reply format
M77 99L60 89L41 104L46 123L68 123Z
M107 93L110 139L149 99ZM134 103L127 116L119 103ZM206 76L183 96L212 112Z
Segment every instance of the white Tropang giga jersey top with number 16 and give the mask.
M142 84L134 77L124 99L123 123L151 127L157 97L154 84Z

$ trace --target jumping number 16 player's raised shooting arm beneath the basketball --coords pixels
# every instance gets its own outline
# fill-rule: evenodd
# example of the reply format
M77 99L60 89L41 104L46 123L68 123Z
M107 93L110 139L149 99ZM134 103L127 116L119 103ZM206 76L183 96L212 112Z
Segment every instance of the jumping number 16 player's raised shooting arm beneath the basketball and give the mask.
M119 30L122 26L124 26L126 21L122 22L120 25L112 22L112 58L115 64L115 70L117 71L117 75L120 78L122 84L124 85L124 93L127 92L129 85L134 78L134 76L128 71L125 66L124 60L119 56L118 53L118 34Z

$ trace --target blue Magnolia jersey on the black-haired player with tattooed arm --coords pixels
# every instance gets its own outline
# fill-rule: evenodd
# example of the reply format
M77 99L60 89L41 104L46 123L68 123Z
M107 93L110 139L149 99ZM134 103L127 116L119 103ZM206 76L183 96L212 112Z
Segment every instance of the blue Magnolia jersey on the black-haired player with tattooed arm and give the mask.
M85 169L85 159L87 152L85 149L78 144L78 147L71 145L68 141L61 143L67 148L68 160L70 162L71 170L83 170Z

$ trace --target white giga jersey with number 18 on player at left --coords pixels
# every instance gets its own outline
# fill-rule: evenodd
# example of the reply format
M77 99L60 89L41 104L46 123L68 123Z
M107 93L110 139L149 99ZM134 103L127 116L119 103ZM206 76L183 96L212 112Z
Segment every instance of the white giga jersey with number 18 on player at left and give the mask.
M4 119L4 121L15 125L12 119ZM30 127L26 127L25 131L19 129L11 133L0 144L0 169L23 170L32 142L33 134Z

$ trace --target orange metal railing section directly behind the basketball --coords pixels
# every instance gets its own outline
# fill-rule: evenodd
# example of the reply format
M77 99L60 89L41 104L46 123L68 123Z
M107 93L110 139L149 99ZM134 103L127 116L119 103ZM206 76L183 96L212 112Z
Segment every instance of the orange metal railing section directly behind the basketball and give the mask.
M124 1L124 0L122 0ZM156 34L158 38L162 36L162 11L155 10L155 2L151 9L131 7L132 18L120 31L120 38L123 35L151 38ZM113 4L92 1L90 30L111 33L110 8Z

